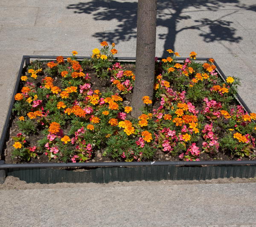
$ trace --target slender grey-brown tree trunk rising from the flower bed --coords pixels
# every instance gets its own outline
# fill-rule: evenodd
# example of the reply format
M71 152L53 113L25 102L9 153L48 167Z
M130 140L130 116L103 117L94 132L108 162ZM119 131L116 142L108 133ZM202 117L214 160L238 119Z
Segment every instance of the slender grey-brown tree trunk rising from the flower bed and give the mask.
M134 92L131 115L137 118L145 104L143 96L152 99L154 87L157 0L139 0L137 13L137 46Z

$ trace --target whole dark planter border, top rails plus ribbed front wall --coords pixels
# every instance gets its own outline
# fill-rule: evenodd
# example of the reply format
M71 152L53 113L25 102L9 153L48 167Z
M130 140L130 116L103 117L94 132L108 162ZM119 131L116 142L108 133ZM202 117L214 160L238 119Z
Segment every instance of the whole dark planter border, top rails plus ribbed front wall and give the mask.
M56 59L57 56L23 56L20 69L9 106L6 122L0 138L0 151L3 150L9 120L12 114L14 96L17 93L20 77L24 66L30 59ZM64 57L67 58L67 57ZM78 60L90 57L77 57ZM186 58L177 58L185 60ZM119 57L118 60L135 60L131 57ZM208 58L198 58L197 61L206 61ZM214 63L224 80L226 76ZM250 113L239 95L237 100ZM3 155L1 154L1 157ZM83 171L74 170L77 167ZM6 176L15 176L27 183L40 182L50 184L57 182L69 183L108 183L111 181L160 181L160 180L206 180L213 178L254 178L256 177L256 160L254 161L196 161L196 162L105 162L105 163L44 163L44 164L5 164L0 160L0 184Z

